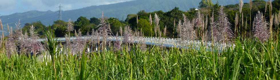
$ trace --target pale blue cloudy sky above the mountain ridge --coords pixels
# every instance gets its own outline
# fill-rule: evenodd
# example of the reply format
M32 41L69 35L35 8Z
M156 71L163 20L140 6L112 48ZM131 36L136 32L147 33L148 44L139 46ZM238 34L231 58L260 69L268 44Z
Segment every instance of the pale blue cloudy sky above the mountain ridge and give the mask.
M59 4L63 10L80 9L92 5L107 5L133 0L0 0L0 16L30 10L57 11Z

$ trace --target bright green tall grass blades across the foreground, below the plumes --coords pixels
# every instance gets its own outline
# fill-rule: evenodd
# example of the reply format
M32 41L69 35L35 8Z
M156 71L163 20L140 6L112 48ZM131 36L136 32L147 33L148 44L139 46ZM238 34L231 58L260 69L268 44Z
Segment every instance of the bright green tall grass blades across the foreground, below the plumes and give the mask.
M151 47L141 51L85 53L39 61L24 55L0 55L0 78L7 79L280 79L279 40L235 41L221 53ZM1 51L2 52L2 51ZM55 77L56 76L56 77Z

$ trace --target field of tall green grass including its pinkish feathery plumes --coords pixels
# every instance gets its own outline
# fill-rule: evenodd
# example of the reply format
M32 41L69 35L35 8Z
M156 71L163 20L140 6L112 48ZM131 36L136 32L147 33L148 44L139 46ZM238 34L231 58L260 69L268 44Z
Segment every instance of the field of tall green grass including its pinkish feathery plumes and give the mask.
M109 35L112 35L112 31L103 13L99 19L98 30L92 30L91 34L87 33L88 38L82 38L81 31L74 30L73 22L69 20L67 23L69 36L65 35L65 46L55 40L55 32L50 27L45 34L46 41L41 43L38 41L39 37L33 25L29 29L29 34L22 33L20 22L18 22L17 29L9 30L9 36L1 37L0 40L2 43L0 46L0 79L280 80L280 17L275 17L273 20L272 6L269 5L269 9L267 9L269 17L263 16L262 12L258 11L252 23L250 18L250 31L246 32L241 28L241 25L244 27L242 5L243 1L240 0L240 18L236 13L235 27L230 24L223 7L220 7L218 11L217 20L214 18L214 12L211 18L208 19L207 16L204 20L203 14L200 14L199 11L197 18L192 21L187 19L185 14L183 14L182 22L179 19L176 30L179 33L178 43L180 45L186 45L183 43L184 41L193 40L235 45L224 50L214 50L214 48L209 50L203 45L199 50L191 48L192 46L188 46L189 49L179 49L163 46L150 47L149 45L146 49L146 42L141 38L143 37L142 29L134 32L129 25L125 26L124 32L120 29L123 39L117 38L111 44L107 39ZM251 0L250 6L252 6ZM266 21L266 17L270 18L269 22ZM136 19L138 23L138 18ZM162 37L162 31L159 28L160 18L157 14L155 14L154 20L155 37ZM151 17L149 21L152 25ZM210 24L207 26L208 23ZM245 23L247 26L247 22ZM0 24L3 31L1 19ZM72 41L70 31L75 32L76 39ZM243 32L245 34L242 34ZM166 28L163 35L165 33ZM4 36L4 32L2 32L2 36ZM151 34L152 36L153 34ZM134 40L133 37L137 38ZM135 41L139 41L139 44L133 43ZM96 44L99 45L99 50L91 52L89 49L95 49ZM105 49L108 46L111 48ZM30 56L30 53L33 52L40 57ZM51 57L45 58L45 55ZM42 56L43 59L40 59Z

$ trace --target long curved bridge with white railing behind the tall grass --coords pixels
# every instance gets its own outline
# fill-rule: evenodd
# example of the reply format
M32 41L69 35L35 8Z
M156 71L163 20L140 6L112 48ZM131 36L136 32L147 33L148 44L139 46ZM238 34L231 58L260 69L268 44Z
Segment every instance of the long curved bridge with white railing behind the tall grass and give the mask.
M68 37L67 37L68 38ZM87 38L87 40L91 39L91 36L81 36L81 39L85 39ZM118 38L118 39L117 39ZM218 50L224 50L228 47L235 47L234 44L225 44L225 43L212 43L211 41L200 41L200 40L193 40L193 41L180 41L177 38L164 38L164 37L133 37L134 39L134 43L139 43L139 40L145 40L145 44L146 45L155 45L155 46L162 46L162 47L176 47L176 48L184 48L184 49L188 49L188 48L193 48L196 50L199 50L200 48L204 48L206 50L212 50L212 48L214 49L218 49ZM55 38L57 39L57 41L66 41L65 37L57 37ZM77 39L75 36L70 37L70 41L73 41ZM109 36L107 38L107 41L116 41L116 40L122 40L123 37L118 36ZM100 38L100 41L102 41L102 37ZM39 39L38 41L46 41L46 39Z

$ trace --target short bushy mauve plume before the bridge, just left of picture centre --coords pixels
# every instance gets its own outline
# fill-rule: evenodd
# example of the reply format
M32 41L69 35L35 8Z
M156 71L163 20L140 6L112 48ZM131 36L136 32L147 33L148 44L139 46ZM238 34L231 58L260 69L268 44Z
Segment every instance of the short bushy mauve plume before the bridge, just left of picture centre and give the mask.
M132 43L133 42L133 31L130 26L125 26L125 32L123 34L123 42L124 43Z

